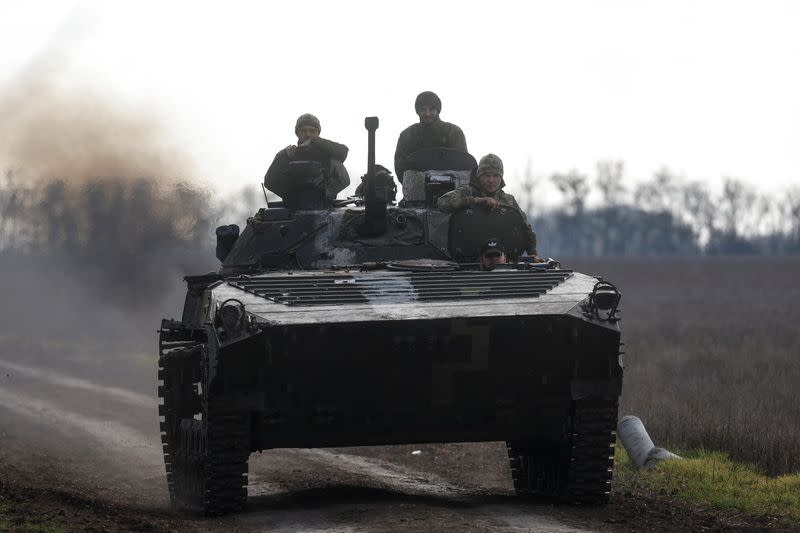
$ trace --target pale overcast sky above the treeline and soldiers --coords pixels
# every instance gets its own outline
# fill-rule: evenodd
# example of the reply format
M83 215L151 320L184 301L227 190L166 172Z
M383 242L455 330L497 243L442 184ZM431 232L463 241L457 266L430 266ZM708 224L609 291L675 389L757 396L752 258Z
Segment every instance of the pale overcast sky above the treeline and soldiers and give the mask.
M54 82L154 113L221 188L258 183L305 112L350 147L354 180L377 115L392 166L433 90L511 192L528 159L542 177L622 159L629 179L778 191L800 184L798 28L792 1L5 0L0 84L56 50Z

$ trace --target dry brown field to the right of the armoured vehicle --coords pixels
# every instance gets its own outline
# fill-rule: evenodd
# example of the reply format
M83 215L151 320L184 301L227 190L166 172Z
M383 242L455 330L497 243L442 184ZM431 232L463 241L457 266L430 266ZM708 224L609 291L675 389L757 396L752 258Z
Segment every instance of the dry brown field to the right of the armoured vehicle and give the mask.
M657 446L800 471L800 258L576 259L623 293L620 415Z

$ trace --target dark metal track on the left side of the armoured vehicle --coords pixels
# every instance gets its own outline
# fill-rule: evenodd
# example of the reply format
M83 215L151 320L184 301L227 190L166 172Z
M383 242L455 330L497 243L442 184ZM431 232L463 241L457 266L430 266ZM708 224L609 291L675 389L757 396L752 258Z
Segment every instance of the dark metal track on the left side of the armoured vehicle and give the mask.
M206 516L240 510L247 501L249 418L210 408L205 339L187 339L186 330L167 322L159 342L158 409L170 501Z

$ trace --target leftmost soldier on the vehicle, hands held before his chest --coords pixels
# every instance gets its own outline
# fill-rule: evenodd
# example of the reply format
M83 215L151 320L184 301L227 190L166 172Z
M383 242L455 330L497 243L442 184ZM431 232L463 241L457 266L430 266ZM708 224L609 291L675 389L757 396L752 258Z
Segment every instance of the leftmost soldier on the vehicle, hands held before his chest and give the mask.
M298 184L289 172L292 161L317 161L322 173L315 177L312 187L317 189L328 202L333 201L339 191L350 184L350 176L344 168L347 159L347 146L323 139L319 136L322 127L319 119L310 113L300 115L294 127L297 144L290 144L275 155L275 159L264 176L264 185L284 202L292 203L292 197L299 194L302 184Z

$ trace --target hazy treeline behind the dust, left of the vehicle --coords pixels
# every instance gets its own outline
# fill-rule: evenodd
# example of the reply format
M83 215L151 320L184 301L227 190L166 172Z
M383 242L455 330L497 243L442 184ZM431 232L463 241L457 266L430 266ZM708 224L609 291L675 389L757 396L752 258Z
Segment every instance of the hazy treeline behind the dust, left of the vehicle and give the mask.
M23 183L7 171L0 177L0 253L58 253L88 262L113 256L128 264L181 250L213 252L214 228L222 217L243 221L255 212L262 198L251 189L215 198L185 181Z

